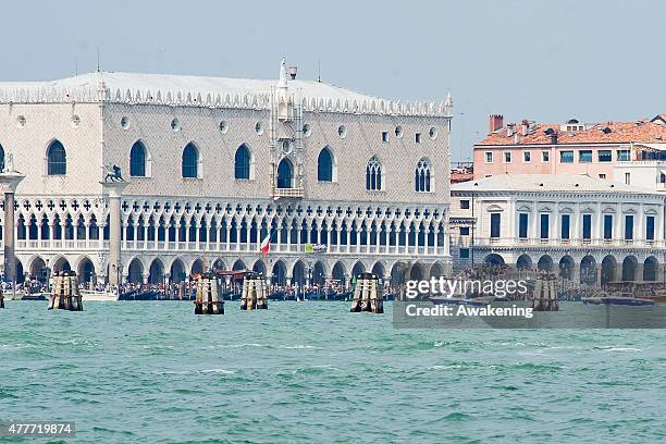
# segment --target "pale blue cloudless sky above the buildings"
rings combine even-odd
[[[102,69],[299,78],[455,102],[454,160],[489,113],[562,122],[666,112],[666,2],[30,1],[0,5],[0,81]]]

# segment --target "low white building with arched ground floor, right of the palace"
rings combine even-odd
[[[473,261],[568,269],[568,278],[597,283],[662,281],[664,202],[663,194],[587,175],[506,174],[456,184],[454,267]]]

